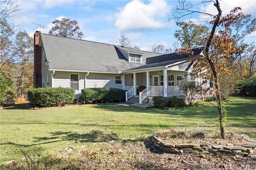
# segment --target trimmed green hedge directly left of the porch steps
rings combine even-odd
[[[82,89],[82,98],[86,104],[123,102],[125,101],[125,90],[116,88]]]

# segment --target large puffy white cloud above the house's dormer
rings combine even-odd
[[[169,11],[164,0],[151,0],[148,4],[133,0],[115,14],[115,25],[121,30],[165,28]]]

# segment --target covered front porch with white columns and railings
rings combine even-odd
[[[185,95],[180,90],[180,84],[190,80],[188,71],[161,69],[133,72],[123,74],[123,89],[127,90],[126,101],[133,96],[138,96],[139,103],[145,103],[153,96]]]

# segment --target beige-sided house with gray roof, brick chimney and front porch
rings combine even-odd
[[[34,46],[34,86],[71,87],[76,97],[84,88],[119,88],[127,90],[126,101],[138,96],[142,103],[151,96],[183,95],[180,83],[197,81],[185,54],[162,55],[38,31]],[[202,55],[203,48],[193,52]]]

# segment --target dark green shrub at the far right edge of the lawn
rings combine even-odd
[[[256,78],[239,80],[235,84],[235,93],[242,96],[256,96]]]

